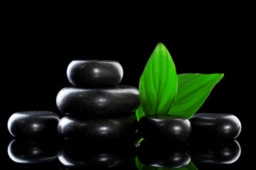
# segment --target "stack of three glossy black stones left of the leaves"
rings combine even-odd
[[[68,116],[58,123],[66,140],[111,143],[136,142],[139,91],[119,85],[121,64],[105,60],[74,60],[67,69],[73,85],[56,98],[59,110]]]

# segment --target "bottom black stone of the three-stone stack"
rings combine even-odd
[[[79,120],[65,116],[58,123],[58,132],[66,140],[88,142],[119,142],[137,140],[137,118],[128,115],[119,118],[90,118]]]

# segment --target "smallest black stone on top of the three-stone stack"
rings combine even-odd
[[[102,88],[117,86],[123,77],[121,64],[107,60],[74,60],[67,69],[73,86]]]

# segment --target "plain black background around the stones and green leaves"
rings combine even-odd
[[[55,97],[60,89],[71,86],[66,69],[72,60],[117,60],[124,69],[121,84],[138,88],[139,77],[158,42],[163,42],[169,50],[177,74],[224,73],[198,113],[230,113],[242,123],[237,139],[242,150],[240,159],[230,165],[196,164],[198,169],[238,169],[250,164],[253,154],[250,136],[255,133],[250,122],[255,117],[255,111],[250,109],[255,84],[251,74],[255,53],[250,51],[253,47],[250,11],[223,8],[193,15],[178,13],[179,18],[164,14],[167,16],[164,20],[155,14],[148,23],[144,17],[135,17],[136,21],[127,16],[112,20],[113,16],[92,19],[83,14],[78,19],[81,13],[70,16],[53,11],[12,10],[4,16],[1,54],[4,164],[11,169],[21,166],[7,155],[7,146],[14,139],[7,130],[11,114],[46,110],[63,116],[55,106]]]

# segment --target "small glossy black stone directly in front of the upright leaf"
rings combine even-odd
[[[178,115],[146,115],[139,120],[138,130],[149,141],[186,141],[191,135],[191,124]]]

